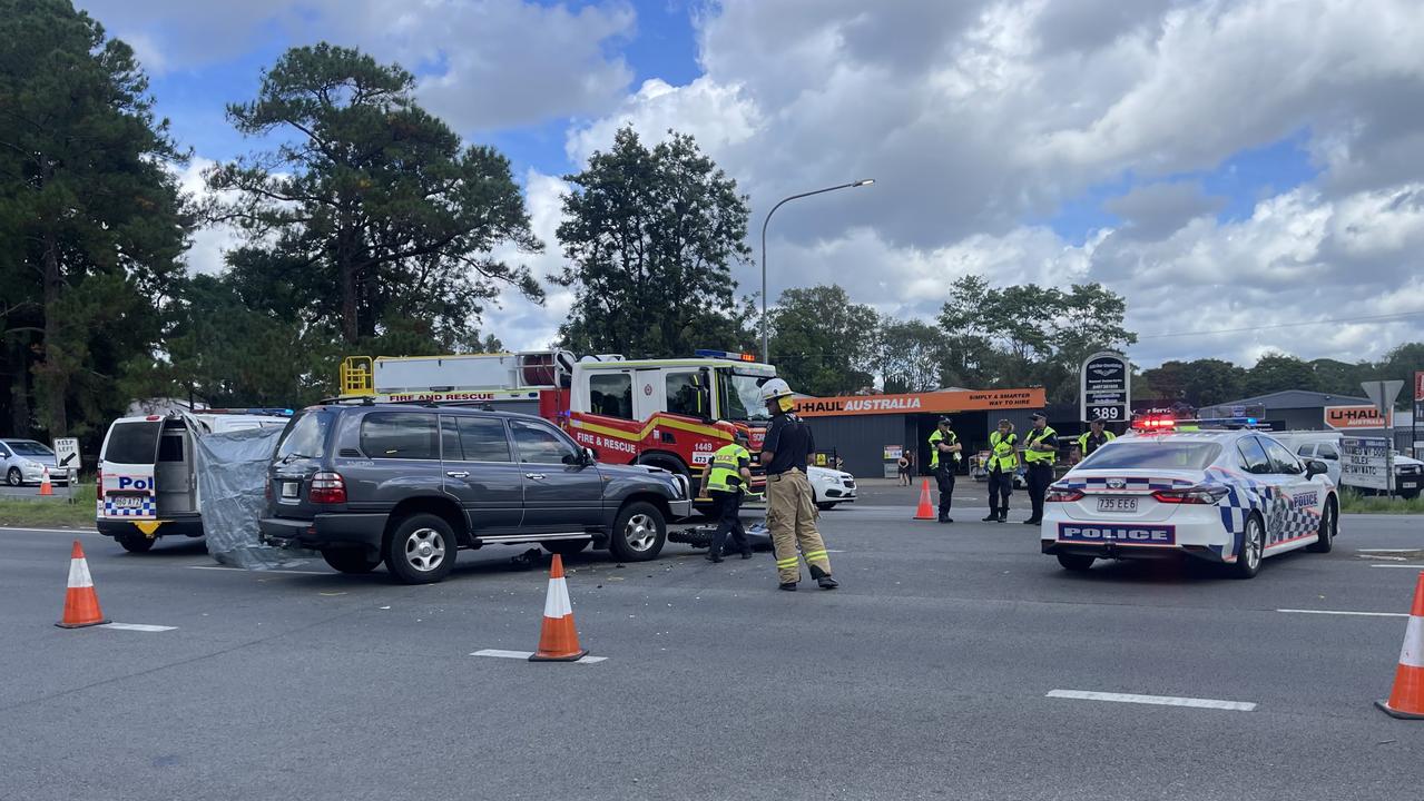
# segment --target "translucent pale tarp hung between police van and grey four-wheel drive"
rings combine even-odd
[[[208,553],[222,565],[266,571],[289,566],[315,553],[286,551],[258,541],[258,519],[266,509],[266,474],[281,428],[246,428],[221,434],[194,431],[198,509]]]

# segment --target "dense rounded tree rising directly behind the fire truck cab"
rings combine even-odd
[[[622,128],[577,175],[565,175],[558,240],[574,287],[560,327],[578,353],[688,356],[743,349],[749,310],[736,307],[732,265],[750,258],[746,196],[692,137],[648,148]]]

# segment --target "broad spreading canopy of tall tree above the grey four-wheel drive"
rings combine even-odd
[[[215,216],[292,265],[306,319],[347,346],[387,327],[460,339],[501,286],[544,296],[527,267],[490,256],[543,249],[508,161],[464,147],[413,91],[410,73],[356,50],[292,48],[256,100],[228,107],[238,131],[281,144],[208,174],[236,196]]]

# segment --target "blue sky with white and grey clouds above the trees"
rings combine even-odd
[[[289,46],[417,73],[417,98],[506,152],[562,267],[560,176],[632,125],[696,137],[779,212],[769,295],[836,282],[931,319],[954,277],[1102,282],[1134,357],[1368,359],[1424,340],[1424,4],[1411,0],[80,0],[130,41],[197,168],[246,152],[224,104]],[[221,269],[208,230],[194,269]],[[759,267],[736,265],[739,292]],[[548,344],[570,296],[486,330]],[[1324,313],[1329,312],[1329,316]],[[1323,323],[1397,314],[1384,322]],[[1297,326],[1312,322],[1312,326]],[[1290,323],[1290,327],[1270,329]]]

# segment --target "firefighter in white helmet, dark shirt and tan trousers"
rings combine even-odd
[[[760,461],[766,468],[766,528],[776,549],[780,589],[796,589],[802,558],[820,589],[836,589],[840,583],[830,578],[830,556],[816,531],[816,505],[806,479],[806,460],[816,450],[810,425],[792,411],[792,388],[786,381],[772,378],[762,384],[762,401],[772,413]]]

